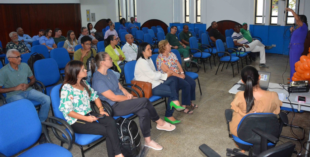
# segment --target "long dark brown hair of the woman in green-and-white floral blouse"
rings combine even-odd
[[[81,71],[81,68],[83,67],[84,63],[81,61],[77,60],[72,60],[67,63],[66,67],[64,67],[64,82],[62,83],[60,89],[59,89],[59,97],[60,97],[60,92],[64,84],[70,84],[70,85],[75,85],[77,84],[78,81],[78,75]],[[91,90],[89,90],[86,81],[84,78],[82,78],[80,84],[86,89],[89,97],[91,96]]]

